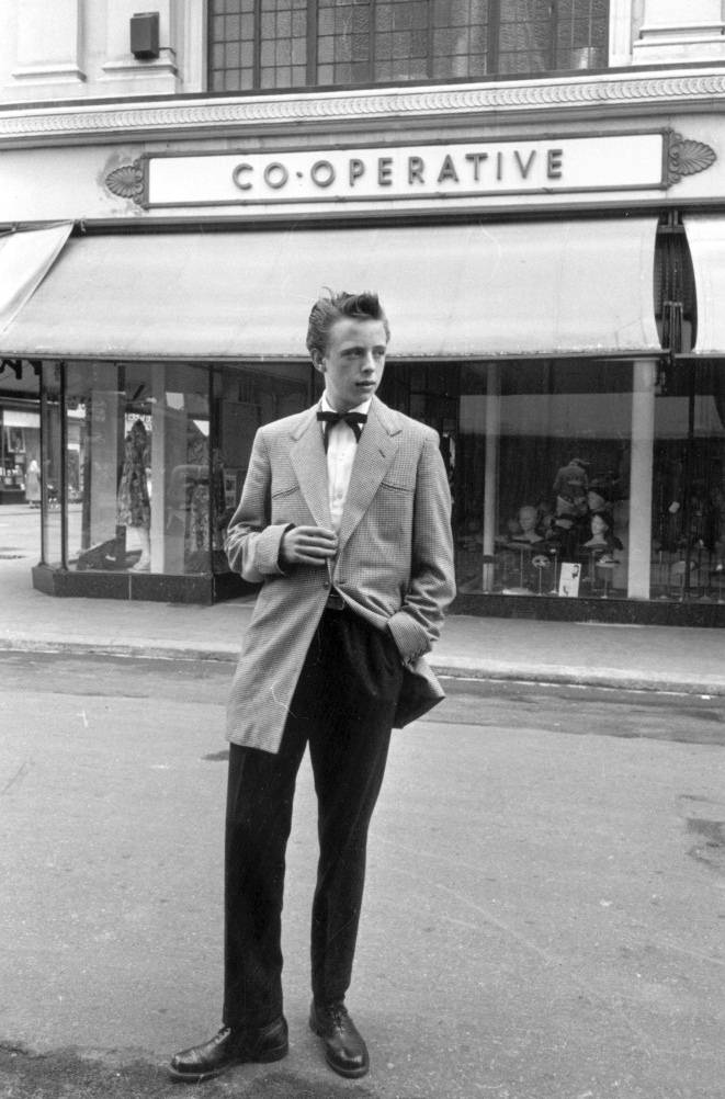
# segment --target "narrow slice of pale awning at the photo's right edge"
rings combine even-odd
[[[698,301],[698,336],[692,354],[725,355],[725,218],[689,214],[682,221]]]

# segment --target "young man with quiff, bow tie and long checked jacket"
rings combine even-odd
[[[376,295],[315,302],[322,400],[258,431],[228,526],[232,568],[261,588],[228,706],[224,1025],[174,1057],[176,1079],[287,1053],[285,851],[308,744],[320,839],[310,1025],[335,1072],[368,1070],[345,1007],[368,825],[391,729],[443,698],[424,654],[455,593],[437,436],[375,396],[389,335]]]

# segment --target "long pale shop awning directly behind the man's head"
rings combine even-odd
[[[660,352],[656,219],[71,238],[5,355],[306,357],[324,287],[375,289],[402,358]]]

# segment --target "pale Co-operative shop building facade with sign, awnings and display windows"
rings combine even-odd
[[[210,601],[256,429],[377,289],[466,613],[725,623],[713,0],[5,0],[2,489],[52,595]],[[684,9],[684,11],[683,11]]]

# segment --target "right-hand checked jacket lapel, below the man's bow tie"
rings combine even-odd
[[[368,422],[357,445],[347,499],[345,500],[343,524],[339,531],[341,553],[370,507],[372,497],[378,491],[380,481],[398,452],[400,433],[401,426],[398,417],[382,401],[373,397]]]

